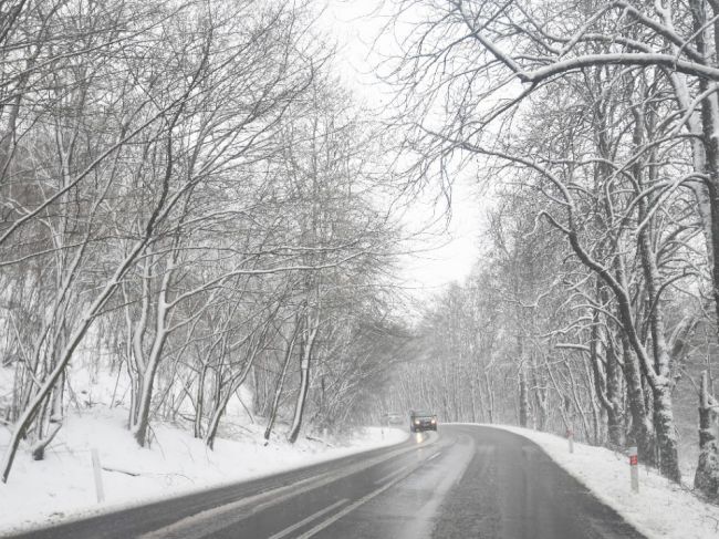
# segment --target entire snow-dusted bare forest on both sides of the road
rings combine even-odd
[[[0,479],[82,365],[140,446],[249,387],[268,439],[427,406],[718,496],[719,2],[381,1],[381,114],[317,10],[0,0]],[[459,176],[482,255],[409,298],[403,208]]]

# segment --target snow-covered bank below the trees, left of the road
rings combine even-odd
[[[125,410],[105,407],[72,415],[48,449],[45,460],[32,462],[27,452],[19,454],[8,484],[0,484],[0,536],[254,479],[398,444],[408,437],[397,428],[367,427],[338,440],[301,437],[290,445],[273,437],[264,446],[263,427],[249,425],[240,427],[239,439],[218,438],[215,450],[209,450],[186,431],[156,425],[152,449],[142,449],[123,427],[126,416]],[[0,429],[0,452],[8,438],[7,429]],[[97,449],[104,468],[102,505],[95,496],[92,448]]]

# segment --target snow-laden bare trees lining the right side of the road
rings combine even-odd
[[[429,394],[449,418],[636,444],[679,480],[690,392],[695,484],[719,494],[719,4],[397,3],[407,148],[500,200],[488,260],[424,322],[454,376]]]

